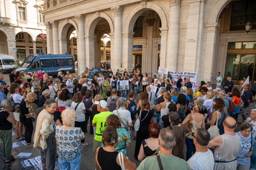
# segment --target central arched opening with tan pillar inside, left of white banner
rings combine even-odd
[[[133,26],[132,67],[152,75],[160,66],[160,29],[162,23],[154,10],[142,12]]]

